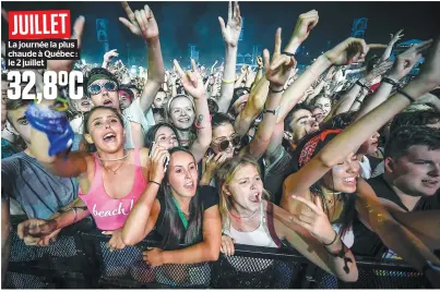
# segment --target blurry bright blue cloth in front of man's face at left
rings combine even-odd
[[[74,133],[63,112],[39,109],[34,102],[26,110],[28,123],[47,135],[49,139],[49,156],[55,156],[63,150],[70,151]],[[66,156],[67,158],[67,156]]]

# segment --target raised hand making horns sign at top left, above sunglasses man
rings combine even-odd
[[[127,1],[122,2],[122,8],[130,21],[119,17],[119,21],[126,25],[130,32],[136,36],[142,36],[145,41],[152,40],[159,36],[159,28],[154,19],[153,11],[148,5],[142,10],[132,11]]]

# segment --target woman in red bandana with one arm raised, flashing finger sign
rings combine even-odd
[[[411,71],[429,42],[414,46],[411,54],[397,58],[395,66]],[[349,229],[356,208],[359,219],[415,268],[425,269],[428,260],[438,263],[417,238],[392,219],[371,187],[359,179],[359,163],[355,155],[360,145],[394,114],[438,86],[438,62],[440,39],[427,59],[425,71],[407,86],[343,132],[318,132],[306,137],[298,147],[300,169],[285,180],[281,206],[295,216],[296,223],[331,246],[335,256],[346,258],[349,253],[347,247],[353,244]],[[324,210],[324,216],[317,216],[318,209]]]

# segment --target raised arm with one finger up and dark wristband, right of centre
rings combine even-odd
[[[241,150],[241,154],[248,154],[255,159],[260,158],[267,149],[275,127],[276,114],[280,111],[284,85],[289,77],[290,71],[296,65],[294,57],[281,53],[281,28],[278,28],[275,35],[272,62],[270,62],[269,51],[263,51],[264,66],[266,68],[265,77],[270,82],[269,96],[263,110],[263,121],[259,124],[257,134],[251,143]]]

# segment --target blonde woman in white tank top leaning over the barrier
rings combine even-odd
[[[255,161],[235,157],[222,165],[216,177],[221,193],[223,253],[233,255],[234,243],[282,247],[282,241],[286,240],[328,272],[337,275],[344,281],[357,280],[353,255],[347,261],[332,257],[322,243],[304,235],[306,230],[288,223],[292,217],[288,212],[266,200],[267,193]]]

